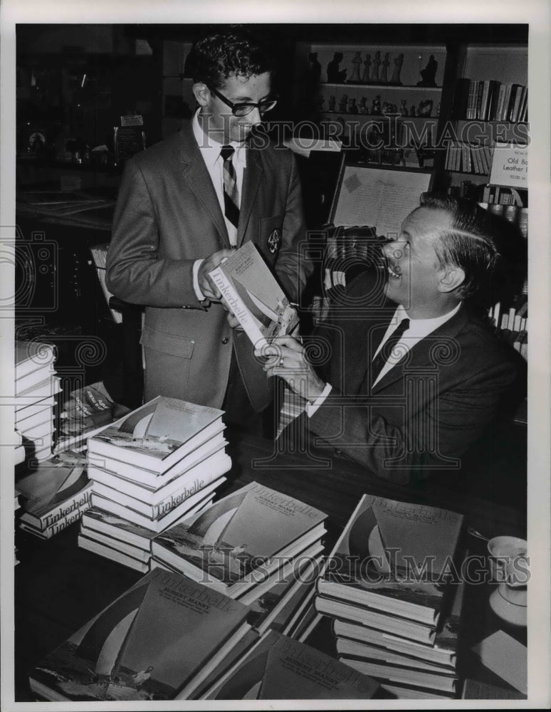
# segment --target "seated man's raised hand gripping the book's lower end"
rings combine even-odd
[[[320,397],[325,382],[318,377],[308,361],[303,345],[290,336],[280,336],[256,356],[265,357],[264,370],[269,376],[283,378],[301,397],[313,403]]]

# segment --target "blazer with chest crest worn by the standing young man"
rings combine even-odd
[[[268,238],[275,230],[281,239],[271,251]],[[238,246],[253,241],[293,301],[311,269],[299,253],[304,236],[293,155],[266,141],[248,147]],[[108,288],[122,300],[145,305],[146,399],[164,394],[220,407],[233,347],[253,406],[260,411],[270,402],[246,335],[229,328],[221,304],[204,308],[194,293],[194,261],[222,248],[230,248],[224,216],[187,122],[127,163],[107,255]]]

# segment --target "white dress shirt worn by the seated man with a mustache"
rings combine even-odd
[[[411,319],[406,313],[406,310],[404,307],[400,304],[398,305],[397,310],[394,312],[394,316],[390,320],[389,327],[387,328],[387,331],[384,333],[384,336],[382,337],[382,341],[380,342],[379,346],[377,347],[377,351],[374,353],[374,357],[377,356],[379,351],[382,349],[384,344],[387,342],[390,336],[394,333],[394,330],[397,329],[399,323],[403,319],[409,319],[409,327],[404,331],[402,336],[400,337],[399,341],[394,345],[394,349],[396,349],[396,357],[392,357],[394,354],[394,349],[392,352],[389,354],[389,358],[387,362],[384,364],[382,367],[381,371],[379,372],[379,375],[377,378],[374,380],[372,385],[375,385],[382,379],[382,377],[391,370],[399,361],[402,360],[404,355],[409,352],[416,343],[421,341],[421,339],[424,339],[424,337],[428,336],[431,334],[433,331],[435,331],[439,326],[442,324],[445,324],[446,321],[451,319],[454,314],[458,313],[459,308],[461,307],[461,302],[458,303],[458,305],[453,308],[451,311],[448,313],[436,317],[434,319]],[[330,384],[326,384],[325,388],[323,389],[323,392],[320,394],[320,396],[311,404],[308,404],[306,406],[306,414],[308,417],[313,416],[313,414],[318,410],[320,405],[325,401],[327,396],[330,394],[332,389],[332,386]]]

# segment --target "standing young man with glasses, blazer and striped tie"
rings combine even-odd
[[[310,273],[293,155],[253,128],[276,104],[273,60],[243,28],[221,26],[187,58],[198,109],[176,135],[125,167],[107,257],[117,297],[145,305],[145,399],[223,407],[252,427],[271,402],[246,335],[211,271],[253,241],[297,301]]]

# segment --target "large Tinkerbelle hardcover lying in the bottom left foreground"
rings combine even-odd
[[[46,656],[31,689],[51,701],[189,698],[248,632],[248,608],[154,569]]]

